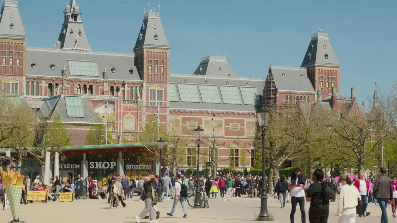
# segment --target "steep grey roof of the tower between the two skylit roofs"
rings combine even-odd
[[[160,13],[148,12],[143,15],[143,23],[134,49],[141,46],[170,48],[161,24]]]

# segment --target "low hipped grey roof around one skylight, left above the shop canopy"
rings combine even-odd
[[[56,115],[59,115],[60,119],[64,123],[102,123],[98,114],[94,111],[94,108],[90,106],[87,99],[81,96],[69,96],[67,97],[80,97],[83,104],[84,117],[68,117],[66,112],[65,96],[58,95],[52,98],[47,98],[39,110],[39,117],[50,117],[53,120]]]

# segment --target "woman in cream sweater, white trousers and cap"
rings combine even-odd
[[[340,187],[338,202],[338,223],[355,223],[357,198],[361,200],[360,193],[346,174],[339,177],[342,186]]]

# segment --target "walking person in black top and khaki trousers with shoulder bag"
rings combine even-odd
[[[144,184],[143,184],[143,194],[142,194],[142,200],[145,201],[145,208],[142,210],[141,214],[139,216],[135,217],[135,220],[137,223],[140,223],[140,219],[144,218],[147,213],[149,213],[149,218],[150,218],[150,223],[157,223],[157,221],[154,219],[156,217],[156,213],[154,211],[153,207],[153,196],[156,196],[156,194],[152,194],[152,183],[154,182],[154,178],[150,176],[146,176],[144,178]]]

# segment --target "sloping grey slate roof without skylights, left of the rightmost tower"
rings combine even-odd
[[[306,68],[271,65],[270,72],[272,73],[278,92],[293,91],[315,93],[313,85],[307,76]],[[301,77],[301,75],[303,75],[303,77]]]

